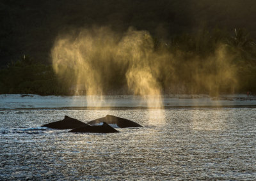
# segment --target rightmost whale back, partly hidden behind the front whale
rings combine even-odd
[[[124,119],[122,117],[116,117],[113,115],[106,115],[106,117],[102,117],[99,119],[92,120],[90,122],[87,122],[87,124],[90,125],[96,125],[100,122],[106,122],[107,124],[116,124],[120,128],[124,127],[143,127],[140,124],[133,122],[132,120]]]

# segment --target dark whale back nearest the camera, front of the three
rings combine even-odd
[[[74,133],[118,133],[116,129],[103,122],[101,126],[83,126],[71,129],[68,132]]]

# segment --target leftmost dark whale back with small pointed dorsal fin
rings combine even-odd
[[[65,115],[65,118],[63,120],[51,122],[43,125],[42,127],[49,127],[53,129],[74,129],[76,127],[82,127],[82,126],[90,126],[90,125]]]

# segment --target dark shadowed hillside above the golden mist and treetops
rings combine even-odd
[[[51,62],[54,39],[73,27],[109,25],[116,31],[126,31],[133,26],[160,39],[195,32],[198,27],[228,31],[244,27],[255,37],[255,10],[254,0],[1,0],[1,66],[23,54]]]

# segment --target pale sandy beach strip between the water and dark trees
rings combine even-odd
[[[97,110],[237,107],[255,108],[256,96],[247,96],[246,94],[227,94],[211,98],[205,94],[176,94],[172,96],[147,96],[147,98],[143,98],[142,96],[127,95],[39,96],[35,94],[0,94],[0,110]]]

